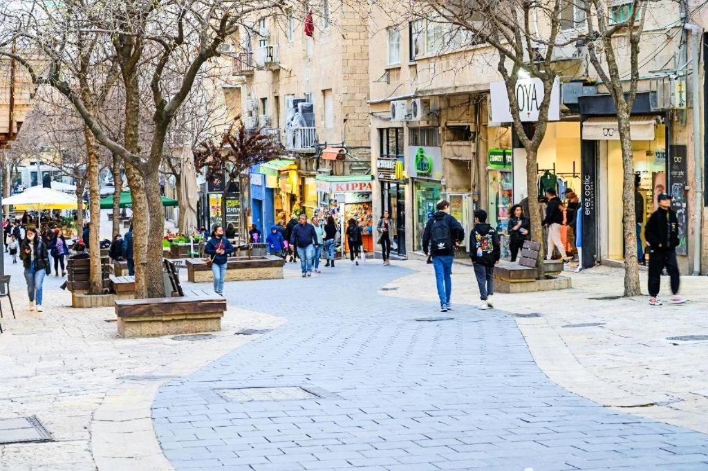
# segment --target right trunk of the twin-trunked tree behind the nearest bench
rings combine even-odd
[[[160,195],[160,180],[157,169],[147,169],[144,173],[145,193],[149,210],[149,230],[147,237],[147,297],[164,297],[162,283],[162,237],[165,216]]]

